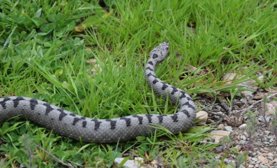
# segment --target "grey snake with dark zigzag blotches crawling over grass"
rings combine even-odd
[[[196,118],[194,101],[180,88],[166,84],[155,75],[156,66],[169,52],[169,42],[160,43],[150,52],[145,65],[145,80],[153,92],[175,104],[173,114],[135,114],[112,119],[95,119],[77,115],[45,101],[23,96],[0,98],[0,123],[19,116],[53,130],[65,137],[88,143],[115,143],[147,136],[164,127],[172,134],[184,132]]]

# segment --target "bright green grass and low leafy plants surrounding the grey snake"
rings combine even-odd
[[[93,0],[0,1],[0,97],[34,97],[94,118],[173,113],[175,107],[155,96],[144,81],[150,51],[165,40],[170,42],[170,55],[157,68],[157,76],[189,89],[196,100],[198,94],[235,94],[237,84],[247,77],[256,80],[257,73],[265,75],[258,83],[262,88],[276,85],[273,3],[104,1],[109,12]],[[86,25],[83,32],[74,29],[83,28],[80,23]],[[94,66],[86,64],[90,58],[102,71],[91,73]],[[199,69],[184,72],[188,65]],[[200,69],[208,74],[198,76]],[[226,73],[246,77],[223,85]],[[163,167],[202,167],[215,162],[211,149],[216,145],[199,143],[208,130],[195,126],[175,136],[164,131],[165,139],[160,133],[126,143],[87,144],[12,119],[0,123],[0,166],[28,166],[31,153],[32,166],[61,167],[36,143],[74,166],[115,167],[114,158],[130,156],[156,160]]]

